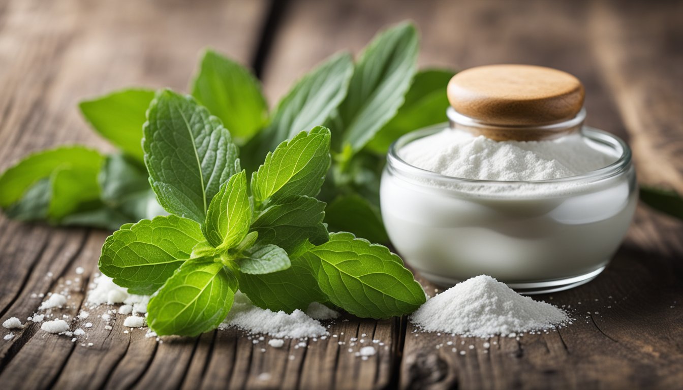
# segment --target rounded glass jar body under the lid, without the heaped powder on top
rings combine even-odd
[[[407,264],[439,285],[484,274],[526,294],[566,290],[604,270],[637,203],[624,141],[583,126],[582,117],[575,131],[616,161],[578,176],[527,182],[443,176],[401,158],[408,143],[451,126],[408,133],[387,156],[382,219]]]

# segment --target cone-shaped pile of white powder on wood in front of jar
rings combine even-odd
[[[438,294],[410,318],[424,331],[477,337],[550,329],[569,320],[561,309],[521,296],[486,275]]]

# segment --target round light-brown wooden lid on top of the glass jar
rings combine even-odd
[[[544,126],[570,120],[583,107],[581,81],[532,65],[470,68],[448,83],[448,100],[462,115],[494,126]]]

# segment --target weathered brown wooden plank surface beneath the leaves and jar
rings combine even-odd
[[[3,0],[0,169],[61,143],[107,150],[76,102],[130,85],[184,90],[205,46],[251,64],[274,102],[324,57],[357,53],[380,27],[412,18],[421,66],[527,63],[576,74],[587,123],[628,140],[641,182],[683,193],[682,15],[680,1]],[[0,217],[0,318],[27,318],[40,303],[31,294],[57,290],[82,266],[65,311],[76,314],[107,234]],[[116,320],[111,330],[94,321],[83,347],[31,324],[0,341],[0,388],[680,388],[682,238],[683,223],[639,207],[602,275],[539,296],[578,317],[547,334],[460,339],[418,335],[405,318],[338,320],[339,340],[385,342],[362,361],[332,338],[266,352],[234,330],[158,344]],[[447,341],[466,354],[436,348]]]

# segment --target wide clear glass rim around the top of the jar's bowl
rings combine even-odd
[[[389,152],[387,153],[387,167],[395,173],[399,173],[404,176],[417,176],[418,178],[436,180],[437,182],[444,183],[457,183],[457,184],[479,184],[487,186],[498,186],[505,185],[510,186],[514,184],[529,184],[532,186],[543,186],[545,184],[557,184],[557,183],[572,183],[572,182],[591,182],[597,180],[603,180],[606,178],[611,178],[617,176],[630,167],[632,153],[628,144],[624,142],[620,137],[607,133],[603,130],[598,130],[597,128],[592,128],[590,126],[582,126],[579,130],[579,135],[581,137],[586,137],[587,139],[599,143],[600,145],[605,145],[611,150],[619,154],[619,158],[613,163],[595,169],[593,171],[588,171],[586,173],[581,173],[574,176],[566,176],[564,178],[553,178],[546,180],[479,180],[479,179],[468,179],[468,178],[458,178],[456,176],[446,176],[438,172],[429,171],[415,165],[411,165],[406,162],[398,153],[400,148],[403,148],[410,142],[417,139],[427,137],[428,135],[433,135],[441,130],[448,127],[448,122],[437,124],[434,126],[429,126],[426,128],[421,128],[419,130],[411,131],[391,143],[389,146]],[[615,153],[615,154],[616,154]]]

